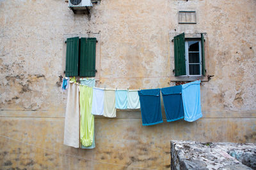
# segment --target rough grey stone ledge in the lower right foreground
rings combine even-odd
[[[256,169],[256,144],[171,141],[171,169]]]

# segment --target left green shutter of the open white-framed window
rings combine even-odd
[[[186,75],[185,34],[174,37],[175,76]]]

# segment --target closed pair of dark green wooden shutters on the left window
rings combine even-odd
[[[96,38],[67,38],[65,76],[95,76]]]

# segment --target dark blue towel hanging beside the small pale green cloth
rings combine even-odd
[[[142,125],[163,122],[160,104],[160,89],[139,90]]]

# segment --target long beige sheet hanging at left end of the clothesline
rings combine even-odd
[[[75,83],[68,85],[64,145],[79,148],[79,89]]]

